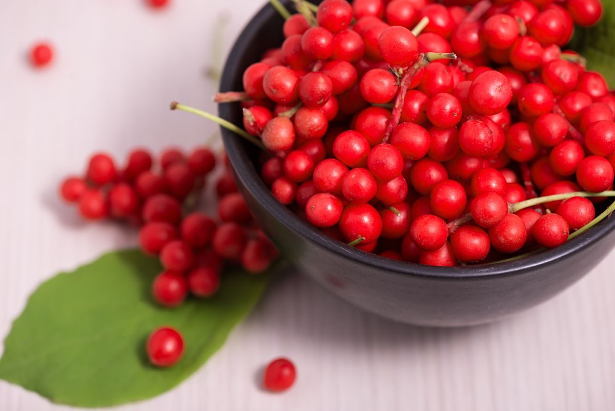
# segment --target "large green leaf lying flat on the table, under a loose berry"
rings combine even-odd
[[[160,271],[156,259],[127,250],[41,284],[4,341],[0,378],[81,407],[164,393],[223,345],[269,277],[230,270],[215,297],[165,309],[150,296]],[[177,327],[185,339],[184,357],[169,369],[153,367],[145,354],[146,338],[161,325]]]

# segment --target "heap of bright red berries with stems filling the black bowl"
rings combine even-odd
[[[615,195],[615,96],[562,49],[600,1],[294,3],[272,1],[284,42],[215,100],[241,102],[229,129],[315,229],[456,266],[557,247],[612,211],[595,207]]]

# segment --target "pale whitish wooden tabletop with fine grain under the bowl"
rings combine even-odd
[[[85,156],[135,145],[185,148],[215,127],[171,100],[215,110],[216,20],[223,50],[264,0],[0,2],[0,336],[39,282],[105,250],[135,244],[116,225],[87,225],[57,199]],[[57,47],[32,70],[33,42]],[[609,411],[615,407],[615,252],[557,298],[498,324],[418,329],[352,308],[296,274],[268,290],[202,369],[170,393],[121,410]],[[0,348],[1,349],[1,348]],[[284,394],[261,391],[272,357],[298,366]],[[60,410],[0,381],[0,410]]]

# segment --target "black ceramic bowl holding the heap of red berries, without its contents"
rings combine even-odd
[[[283,20],[265,6],[237,39],[221,91],[242,90],[242,74],[261,54],[282,44]],[[220,116],[242,125],[239,105]],[[258,151],[222,129],[239,190],[264,231],[301,273],[344,300],[410,324],[481,324],[530,308],[588,273],[615,241],[615,218],[555,249],[522,260],[468,267],[433,267],[390,260],[348,247],[315,230],[280,204],[255,168]]]

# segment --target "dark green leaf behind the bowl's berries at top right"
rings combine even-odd
[[[615,87],[615,0],[602,0],[602,18],[597,25],[576,27],[570,47],[587,58],[587,70],[605,76],[609,87]]]

